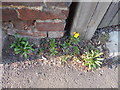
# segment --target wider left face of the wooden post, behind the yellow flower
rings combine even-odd
[[[97,2],[79,2],[71,28],[71,35],[73,32],[79,32],[80,37],[84,37],[87,24],[90,22],[96,6]]]

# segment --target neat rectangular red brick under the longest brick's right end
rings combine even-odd
[[[65,23],[37,22],[36,29],[39,31],[64,31]]]

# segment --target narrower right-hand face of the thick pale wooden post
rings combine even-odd
[[[94,15],[91,17],[92,19],[91,19],[90,23],[88,24],[88,28],[84,35],[84,39],[89,40],[92,38],[95,30],[97,29],[103,16],[105,15],[110,3],[111,2],[99,2],[98,6],[94,12]]]

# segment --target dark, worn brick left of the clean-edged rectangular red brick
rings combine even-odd
[[[15,20],[12,21],[13,25],[16,29],[19,30],[31,30],[33,26],[33,21],[28,20],[28,21],[22,21],[22,20]]]

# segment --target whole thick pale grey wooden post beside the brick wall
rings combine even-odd
[[[73,32],[79,32],[81,39],[91,39],[110,3],[79,2],[71,28],[71,35],[73,35]]]

